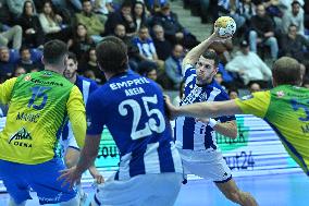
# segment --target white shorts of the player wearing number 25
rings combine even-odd
[[[114,180],[110,177],[94,196],[92,205],[103,206],[173,206],[182,185],[183,174],[166,172]]]

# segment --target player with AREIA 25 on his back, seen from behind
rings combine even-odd
[[[96,51],[108,82],[88,99],[85,146],[77,167],[63,171],[62,178],[72,185],[90,166],[107,125],[120,152],[120,167],[98,187],[91,205],[174,205],[183,167],[161,89],[127,71],[126,46],[121,39],[106,37]]]

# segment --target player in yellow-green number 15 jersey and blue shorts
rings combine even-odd
[[[44,47],[44,71],[0,85],[0,104],[10,105],[0,133],[0,179],[11,196],[10,206],[25,205],[32,198],[29,187],[40,204],[79,204],[76,192],[57,181],[65,169],[55,147],[66,117],[79,147],[86,134],[82,94],[63,77],[66,59],[66,45],[51,40]]]

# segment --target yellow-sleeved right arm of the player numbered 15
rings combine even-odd
[[[71,90],[66,108],[77,145],[82,148],[84,146],[87,129],[86,111],[82,93],[76,86]]]

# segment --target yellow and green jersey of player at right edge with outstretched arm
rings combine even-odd
[[[244,113],[263,118],[284,147],[309,175],[309,89],[281,85],[236,99]]]

